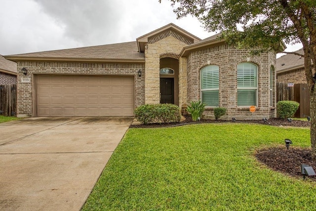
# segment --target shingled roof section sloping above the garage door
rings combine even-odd
[[[145,62],[144,53],[138,52],[137,42],[122,42],[90,47],[51,50],[4,56],[12,61],[100,61],[100,62]]]

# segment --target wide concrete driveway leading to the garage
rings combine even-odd
[[[0,210],[78,211],[132,118],[0,124]]]

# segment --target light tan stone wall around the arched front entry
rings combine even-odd
[[[153,39],[154,40],[154,39]],[[165,37],[161,40],[157,39],[157,42],[148,43],[147,49],[145,49],[145,103],[146,104],[159,104],[159,62],[160,55],[164,53],[176,53],[179,54],[183,47],[187,46],[186,43],[178,40],[173,36]],[[155,40],[156,41],[156,40]],[[179,63],[179,71],[183,74],[183,67]],[[180,73],[181,74],[181,73]],[[179,74],[179,75],[180,75]],[[181,81],[181,82],[180,82]],[[179,78],[179,83],[184,83],[183,75]],[[179,98],[181,96],[182,102],[184,99],[183,88],[179,88]]]

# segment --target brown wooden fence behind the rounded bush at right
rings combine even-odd
[[[300,103],[294,117],[306,118],[310,116],[310,91],[307,84],[294,84],[288,87],[287,83],[276,84],[276,101],[293,100]]]

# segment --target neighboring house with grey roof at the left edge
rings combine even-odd
[[[0,55],[0,84],[16,84],[16,63]]]

